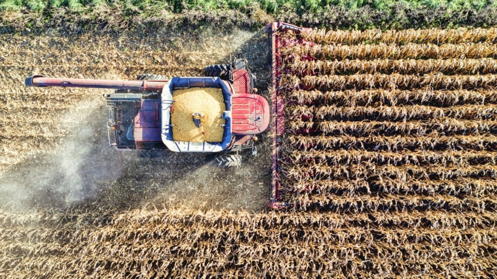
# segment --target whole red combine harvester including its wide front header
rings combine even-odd
[[[116,89],[113,94],[105,94],[108,107],[107,130],[109,143],[118,150],[155,151],[168,149],[175,152],[222,152],[216,155],[218,166],[240,166],[241,149],[251,149],[256,153],[256,135],[264,132],[270,123],[272,144],[272,164],[267,206],[272,209],[289,207],[281,197],[280,145],[284,133],[284,100],[280,92],[280,47],[291,44],[306,44],[297,39],[281,39],[280,34],[299,33],[302,28],[286,23],[267,25],[268,64],[272,65],[271,108],[260,95],[254,94],[255,76],[248,70],[245,59],[236,60],[235,65],[212,65],[205,68],[208,77],[166,77],[157,74],[142,74],[134,81],[95,80],[75,78],[51,78],[33,75],[26,78],[27,86],[61,86]],[[225,123],[222,138],[218,141],[176,139],[175,131],[185,125],[195,125],[202,129],[202,121],[209,112],[182,111],[182,121],[176,121],[179,107],[175,100],[177,90],[191,88],[219,88],[224,103],[219,118]],[[203,95],[195,99],[203,98]],[[184,110],[184,108],[182,108]],[[216,112],[214,112],[216,113]],[[186,123],[186,124],[185,124]],[[195,130],[196,131],[196,130]],[[205,131],[205,129],[204,129]],[[178,132],[179,133],[179,132]],[[192,137],[190,135],[190,137]],[[183,137],[184,138],[184,137]],[[195,137],[197,138],[197,137]],[[145,153],[149,154],[149,153]]]

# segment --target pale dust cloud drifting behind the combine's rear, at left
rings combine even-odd
[[[60,147],[39,151],[0,173],[0,206],[65,208],[94,199],[101,183],[122,170],[121,152],[108,146],[105,115],[101,99],[70,110],[61,118],[60,125],[70,132]]]

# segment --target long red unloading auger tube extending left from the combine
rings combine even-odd
[[[57,86],[104,89],[162,90],[168,80],[108,80],[84,78],[56,78],[32,75],[24,81],[26,86]]]

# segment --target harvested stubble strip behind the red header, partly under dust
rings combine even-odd
[[[239,168],[206,164],[202,154],[139,158],[109,147],[104,93],[24,86],[32,74],[135,79],[141,73],[202,76],[205,66],[247,58],[267,94],[262,32],[214,30],[0,36],[0,205],[115,208],[167,204],[194,209],[264,209],[268,148],[244,152]]]

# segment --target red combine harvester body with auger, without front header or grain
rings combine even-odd
[[[168,80],[157,74],[142,74],[137,80],[102,80],[52,78],[33,75],[25,80],[27,86],[60,86],[116,89],[104,94],[107,99],[107,131],[109,144],[118,150],[142,150],[153,155],[154,150],[176,152],[216,152],[214,164],[222,167],[239,166],[238,151],[251,149],[255,155],[256,135],[269,124],[269,105],[254,94],[255,75],[247,60],[238,59],[234,65],[212,65],[205,68],[206,77],[173,77]],[[189,88],[219,88],[223,95],[221,141],[179,141],[173,139],[171,123],[174,113],[174,91]],[[220,103],[218,105],[221,105]],[[197,127],[201,120],[193,115]]]

